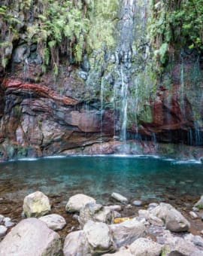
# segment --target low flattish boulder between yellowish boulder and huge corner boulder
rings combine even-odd
[[[65,218],[56,214],[43,216],[39,220],[46,223],[51,230],[62,230],[66,225]]]

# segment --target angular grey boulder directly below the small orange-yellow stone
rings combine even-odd
[[[117,247],[129,245],[145,235],[145,226],[136,219],[124,221],[120,224],[112,224],[109,226]]]

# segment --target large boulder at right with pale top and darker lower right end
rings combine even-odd
[[[165,227],[168,230],[173,232],[189,230],[189,221],[187,221],[180,212],[168,203],[160,203],[159,206],[156,206],[150,211],[150,214],[164,221]]]

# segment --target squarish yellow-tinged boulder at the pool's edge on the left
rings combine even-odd
[[[29,194],[24,199],[23,212],[26,217],[41,217],[50,212],[50,201],[42,192]]]

